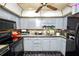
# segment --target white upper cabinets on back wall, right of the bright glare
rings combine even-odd
[[[42,18],[42,26],[54,25],[56,29],[66,29],[67,28],[67,17],[62,18]]]

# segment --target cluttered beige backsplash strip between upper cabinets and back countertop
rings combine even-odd
[[[46,35],[46,36],[66,36],[67,31],[61,29],[24,29],[21,30],[22,35]]]

